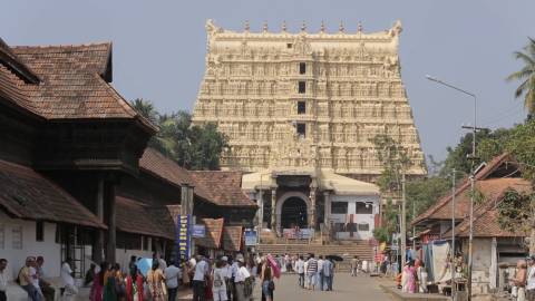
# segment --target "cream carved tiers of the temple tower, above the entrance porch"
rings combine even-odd
[[[389,30],[296,33],[225,30],[206,22],[206,71],[194,124],[228,137],[224,169],[333,168],[373,178],[382,166],[370,139],[391,136],[409,149],[409,174],[425,175],[398,55],[401,23]]]

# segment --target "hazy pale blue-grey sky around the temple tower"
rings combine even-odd
[[[204,74],[206,19],[242,30],[250,20],[296,32],[303,21],[318,32],[343,21],[354,32],[389,29],[401,20],[400,61],[426,155],[444,159],[474,123],[474,103],[425,78],[432,75],[477,95],[477,126],[509,127],[526,113],[514,98],[521,68],[513,52],[535,37],[535,1],[399,0],[2,0],[0,37],[8,45],[76,45],[111,41],[113,85],[126,99],[152,100],[162,113],[191,110]]]

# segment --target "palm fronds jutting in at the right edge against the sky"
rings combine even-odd
[[[507,81],[521,80],[522,84],[516,88],[515,98],[524,95],[524,107],[529,115],[535,113],[535,40],[529,39],[529,43],[524,47],[524,51],[515,51],[516,59],[523,61],[524,67],[521,70],[509,75]]]

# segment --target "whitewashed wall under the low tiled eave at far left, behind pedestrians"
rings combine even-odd
[[[13,230],[22,227],[22,249],[13,249]],[[59,276],[61,266],[60,245],[56,240],[56,224],[45,223],[43,241],[36,241],[36,222],[11,219],[0,212],[0,258],[8,260],[8,276],[12,280],[17,276],[27,256],[43,256],[45,273],[49,278]]]

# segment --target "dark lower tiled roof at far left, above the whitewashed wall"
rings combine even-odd
[[[0,207],[18,219],[106,229],[67,192],[36,171],[0,161]]]

